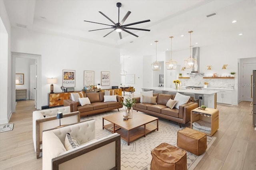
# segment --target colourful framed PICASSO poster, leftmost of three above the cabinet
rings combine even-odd
[[[76,71],[62,70],[62,85],[64,87],[76,87]]]

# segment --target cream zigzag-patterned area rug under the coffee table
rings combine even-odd
[[[124,109],[120,111],[111,111],[99,115],[94,115],[86,118],[81,118],[80,121],[87,119],[96,120],[96,138],[102,138],[111,134],[106,129],[102,129],[102,117],[112,114],[124,114]],[[104,124],[108,124],[108,121],[104,121]],[[156,122],[152,122],[156,125]],[[178,123],[168,121],[166,119],[159,119],[159,130],[155,130],[146,135],[146,137],[138,138],[137,140],[127,142],[121,139],[121,170],[150,170],[150,162],[152,160],[151,150],[163,142],[176,146],[177,131],[181,130]],[[210,148],[216,137],[207,136],[207,150]],[[190,152],[187,152],[187,167],[188,170],[193,170],[200,162],[204,154],[196,156]]]

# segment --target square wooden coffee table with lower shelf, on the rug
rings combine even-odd
[[[145,115],[143,113],[133,113],[132,119],[128,119],[127,121],[123,120],[123,115],[125,113],[118,113],[114,115],[109,115],[102,117],[102,129],[106,129],[112,133],[117,132],[121,135],[121,138],[128,142],[128,145],[130,145],[130,142],[144,136],[146,137],[146,134],[158,130],[158,118],[152,117],[149,115]],[[108,125],[104,125],[104,120],[110,122]],[[156,121],[156,125],[151,125],[149,123]],[[113,128],[113,130],[110,130],[110,127],[120,127],[119,129]]]

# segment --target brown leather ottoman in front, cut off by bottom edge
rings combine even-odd
[[[151,151],[150,170],[187,170],[185,150],[162,143]]]

